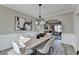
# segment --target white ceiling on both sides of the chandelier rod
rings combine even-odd
[[[39,16],[38,4],[4,4],[3,6],[33,17]],[[41,15],[42,18],[45,18],[50,15],[70,11],[72,8],[73,4],[42,4]]]

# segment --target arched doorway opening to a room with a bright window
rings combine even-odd
[[[62,22],[59,21],[59,20],[53,20],[53,19],[48,20],[48,21],[46,21],[46,23],[44,25],[44,30],[46,32],[52,33],[52,35],[55,35],[57,37],[61,37],[61,34],[62,34]]]

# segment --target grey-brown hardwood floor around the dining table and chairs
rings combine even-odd
[[[57,48],[55,49],[57,51],[55,52],[55,54],[53,54],[55,50],[50,49],[50,52],[47,55],[77,55],[79,53],[79,51],[75,52],[75,49],[71,45],[62,44],[62,47],[64,51],[61,48]],[[7,55],[7,52],[11,49],[12,47],[0,51],[0,55]],[[37,54],[37,51],[34,51],[34,53],[32,53],[31,55],[41,55],[41,54]]]

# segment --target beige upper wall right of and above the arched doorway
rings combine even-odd
[[[63,33],[73,33],[73,13],[64,13],[57,16],[51,16],[45,20],[60,20],[63,23]]]

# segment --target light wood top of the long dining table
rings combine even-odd
[[[34,48],[34,47],[44,43],[45,41],[49,40],[50,38],[52,38],[51,35],[45,35],[44,37],[40,37],[39,39],[31,38],[29,41],[25,42],[24,44],[27,49]]]

